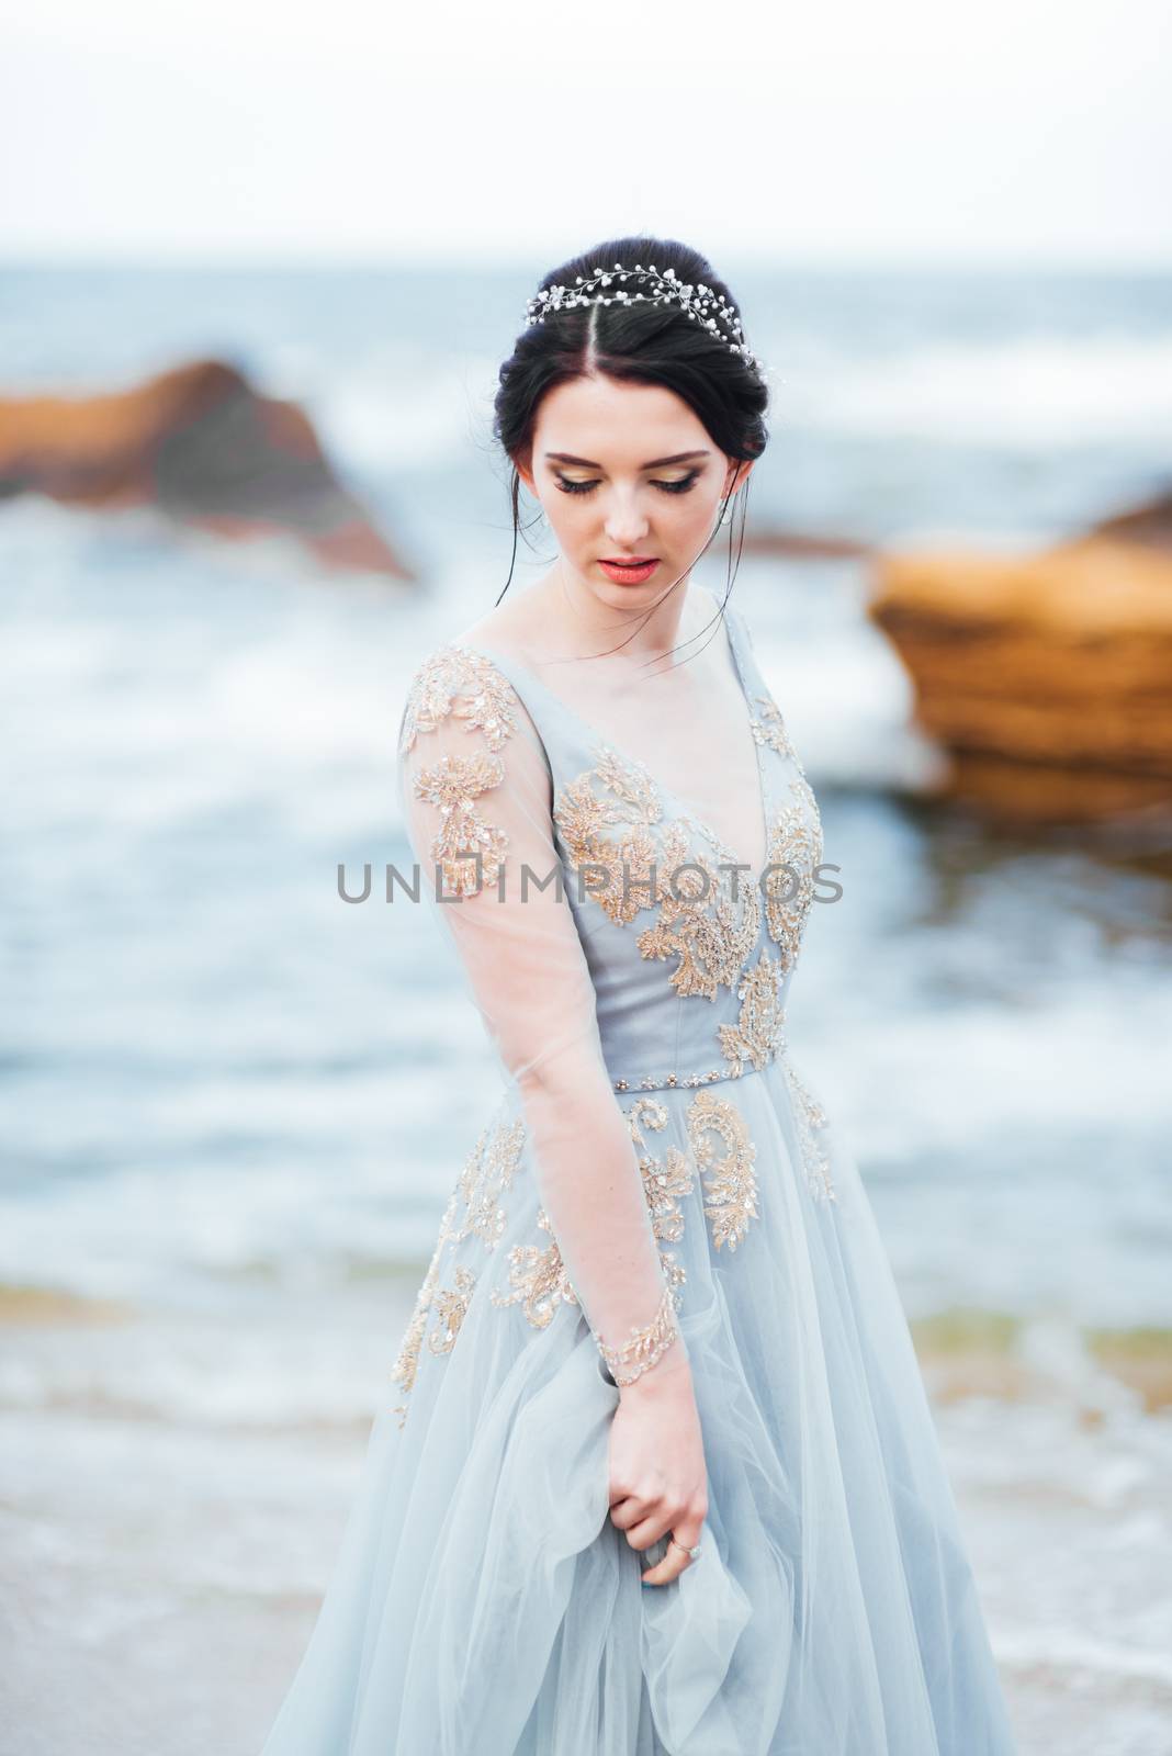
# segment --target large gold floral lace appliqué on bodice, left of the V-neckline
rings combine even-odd
[[[723,864],[735,864],[704,824],[688,815],[663,820],[642,766],[598,746],[595,767],[560,794],[554,822],[570,864],[611,920],[626,925],[640,910],[658,910],[656,924],[639,934],[639,954],[679,959],[668,975],[677,994],[716,999],[721,983],[732,987],[758,938],[760,887],[693,846],[691,831],[700,831]]]

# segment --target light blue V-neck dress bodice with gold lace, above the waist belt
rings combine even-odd
[[[726,609],[725,625],[756,746],[768,860],[760,873],[697,804],[516,657],[482,643],[449,648],[493,666],[542,739],[561,883],[616,1090],[739,1078],[784,1048],[786,996],[823,857],[821,822],[740,615]]]

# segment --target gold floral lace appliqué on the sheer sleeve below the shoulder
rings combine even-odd
[[[509,838],[481,815],[475,801],[504,780],[497,752],[516,730],[518,701],[512,683],[488,658],[460,646],[442,646],[412,678],[400,738],[404,755],[449,715],[486,745],[467,757],[444,755],[412,774],[416,797],[440,813],[430,853],[449,896],[474,896],[500,874]],[[477,853],[479,860],[472,857]]]

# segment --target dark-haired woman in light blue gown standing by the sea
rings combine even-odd
[[[837,867],[746,620],[690,581],[767,406],[674,241],[546,276],[500,371],[514,534],[523,481],[558,558],[421,658],[398,795],[504,1089],[263,1756],[1012,1756],[888,1257],[786,1036]]]

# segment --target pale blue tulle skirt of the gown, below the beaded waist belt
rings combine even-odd
[[[704,1429],[702,1552],[642,1584],[665,1542],[639,1552],[609,1519],[618,1387],[575,1303],[516,1296],[514,1245],[551,1245],[528,1154],[481,1201],[488,1224],[465,1168],[261,1756],[1012,1756],[888,1256],[793,1076],[783,1055],[707,1087],[751,1141],[735,1247],[716,1241],[719,1162],[700,1175],[693,1154],[697,1094],[623,1094],[649,1154],[693,1166],[660,1227]],[[523,1140],[516,1103],[481,1157]]]

